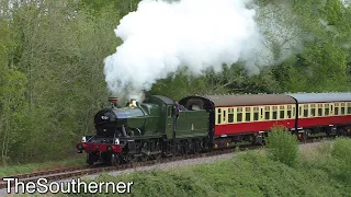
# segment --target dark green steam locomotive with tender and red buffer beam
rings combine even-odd
[[[197,153],[210,147],[210,114],[205,109],[186,109],[161,95],[143,103],[131,100],[125,107],[117,107],[113,97],[110,103],[111,107],[94,116],[95,135],[82,137],[77,144],[80,153],[87,152],[90,165]]]

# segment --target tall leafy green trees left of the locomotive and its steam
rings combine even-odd
[[[27,1],[14,4],[13,20],[0,18],[3,164],[72,155],[75,142],[94,132],[92,117],[107,96],[103,59],[120,42],[118,12],[78,8],[69,0]]]

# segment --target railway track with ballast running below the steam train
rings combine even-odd
[[[314,138],[302,143],[313,143],[313,142],[319,142],[325,138]],[[236,147],[236,150],[239,149],[239,151],[245,150],[252,150],[263,148],[263,146],[258,144],[242,144],[239,147]],[[14,177],[19,178],[20,182],[29,183],[29,182],[36,182],[38,178],[46,178],[48,182],[53,181],[59,181],[59,179],[66,179],[66,178],[76,178],[81,177],[84,175],[90,174],[97,174],[102,172],[111,172],[111,171],[117,171],[117,170],[127,170],[127,169],[134,169],[139,166],[150,166],[154,164],[160,164],[160,163],[169,163],[173,161],[181,161],[181,160],[189,160],[189,159],[196,159],[196,158],[207,158],[213,155],[219,155],[219,154],[227,154],[234,152],[235,149],[233,147],[225,148],[225,149],[215,149],[212,152],[205,152],[205,153],[199,153],[199,154],[185,154],[180,157],[171,157],[171,158],[163,158],[161,160],[150,160],[150,161],[143,161],[143,162],[131,162],[126,164],[121,164],[118,166],[103,166],[103,165],[94,165],[94,166],[76,166],[76,167],[64,167],[64,169],[57,169],[57,170],[49,170],[49,171],[42,171],[42,172],[35,172],[35,173],[27,173],[27,174],[16,174],[16,175],[10,175],[8,177]],[[12,184],[13,186],[14,184]],[[0,189],[7,188],[7,183],[2,182],[2,177],[0,178]]]

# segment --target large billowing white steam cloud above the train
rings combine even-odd
[[[113,94],[138,97],[158,79],[186,66],[192,74],[220,71],[238,60],[247,68],[267,65],[270,51],[249,0],[144,0],[115,30],[123,44],[104,60]],[[259,54],[259,55],[258,55]]]

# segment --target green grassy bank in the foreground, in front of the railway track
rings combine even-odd
[[[279,149],[297,146],[285,144],[280,143]],[[117,177],[103,174],[94,181],[134,182],[133,196],[350,196],[351,139],[337,139],[332,146],[328,141],[308,144],[285,160],[272,154],[246,151],[211,164]]]

